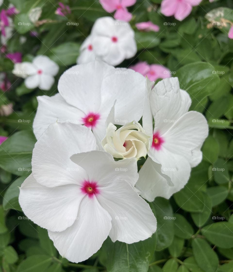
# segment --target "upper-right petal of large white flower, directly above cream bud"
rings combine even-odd
[[[103,79],[101,95],[104,105],[116,100],[114,124],[139,121],[146,96],[145,78],[131,69],[114,69]]]

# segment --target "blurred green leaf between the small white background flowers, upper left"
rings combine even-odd
[[[75,42],[65,42],[51,49],[49,57],[60,66],[76,64],[80,45]]]

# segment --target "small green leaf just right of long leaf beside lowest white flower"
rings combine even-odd
[[[181,214],[174,214],[174,217],[176,218],[174,220],[175,235],[183,239],[191,238],[194,234],[194,230],[185,217]]]

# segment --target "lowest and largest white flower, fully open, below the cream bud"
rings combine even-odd
[[[20,188],[25,215],[48,229],[59,253],[72,262],[89,258],[108,236],[134,243],[156,230],[148,203],[132,187],[136,159],[115,162],[96,148],[85,126],[50,125],[35,144],[32,174]]]

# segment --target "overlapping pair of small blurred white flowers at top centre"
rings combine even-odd
[[[81,46],[78,63],[92,61],[96,55],[115,66],[133,57],[136,52],[137,45],[130,24],[112,17],[101,17],[96,20],[91,35]]]

